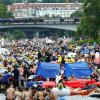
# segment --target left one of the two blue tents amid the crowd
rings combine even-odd
[[[37,68],[37,75],[43,76],[44,78],[55,78],[60,72],[59,64],[41,62]]]

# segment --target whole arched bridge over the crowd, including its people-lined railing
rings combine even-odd
[[[76,31],[79,20],[75,19],[1,19],[0,31],[6,29],[64,29]]]

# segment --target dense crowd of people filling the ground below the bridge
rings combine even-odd
[[[41,87],[41,81],[47,81],[42,76],[36,75],[38,64],[41,62],[60,64],[63,81],[75,79],[73,75],[69,79],[64,76],[65,63],[87,62],[93,70],[89,79],[100,81],[100,46],[96,43],[69,45],[66,39],[61,38],[50,43],[46,38],[34,38],[5,41],[1,48],[6,50],[0,51],[0,88],[6,88],[7,100],[56,100],[56,98],[66,100],[60,99],[66,98],[66,96],[62,97],[61,92],[55,94],[54,89]],[[31,81],[35,84],[27,87],[30,75],[34,76]],[[72,91],[73,89],[68,91],[61,80],[58,82],[57,91],[65,91],[66,95],[77,94]],[[99,89],[98,91],[100,93]]]

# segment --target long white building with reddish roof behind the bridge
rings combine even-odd
[[[70,17],[82,3],[13,3],[8,9],[15,18]]]

